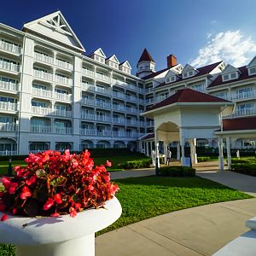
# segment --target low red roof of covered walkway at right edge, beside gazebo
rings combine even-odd
[[[239,130],[256,130],[256,116],[223,120],[223,131]]]

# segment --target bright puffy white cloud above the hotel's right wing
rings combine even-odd
[[[194,67],[201,67],[217,61],[226,61],[235,67],[246,65],[256,53],[256,43],[240,30],[219,32],[216,36],[207,36],[208,42],[199,49],[198,56],[191,61]]]

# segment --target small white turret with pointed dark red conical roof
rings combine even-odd
[[[143,78],[150,73],[154,73],[155,62],[152,56],[148,53],[148,49],[143,50],[139,61],[137,61],[137,77]]]

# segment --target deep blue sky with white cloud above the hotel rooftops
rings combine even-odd
[[[255,0],[12,0],[0,6],[0,22],[17,29],[61,10],[86,49],[128,60],[132,73],[147,48],[156,70],[166,56],[202,67],[224,60],[235,67],[256,55]]]

